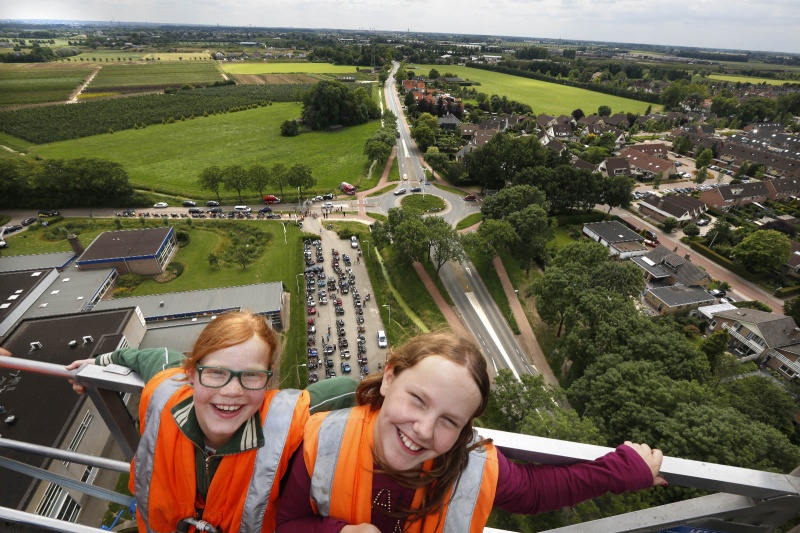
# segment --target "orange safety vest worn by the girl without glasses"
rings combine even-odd
[[[317,514],[348,524],[372,521],[373,440],[377,416],[377,410],[364,405],[309,418],[303,456],[311,477],[311,505]],[[476,433],[473,439],[478,438]],[[432,461],[429,461],[424,468],[431,466]],[[406,523],[404,531],[481,533],[494,504],[498,469],[494,445],[472,451],[455,492],[450,489],[440,514]],[[412,509],[421,505],[422,495],[423,489],[417,489]]]

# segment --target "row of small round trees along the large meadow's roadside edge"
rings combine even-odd
[[[206,167],[197,178],[197,184],[201,189],[212,192],[220,200],[220,189],[236,191],[239,201],[242,201],[242,191],[258,191],[260,197],[264,197],[267,189],[279,190],[283,196],[283,188],[308,190],[317,184],[311,167],[304,163],[295,163],[288,167],[283,163],[275,163],[267,168],[265,165],[256,163],[250,167],[242,165],[229,165],[220,168],[216,165]],[[299,200],[299,198],[298,198]]]

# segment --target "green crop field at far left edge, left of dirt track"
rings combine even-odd
[[[92,68],[69,63],[0,63],[0,106],[67,100]]]

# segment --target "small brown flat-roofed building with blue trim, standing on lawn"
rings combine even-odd
[[[146,228],[105,231],[89,245],[76,264],[81,270],[116,268],[122,274],[163,274],[177,251],[175,230]]]

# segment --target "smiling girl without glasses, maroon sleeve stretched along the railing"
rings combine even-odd
[[[479,533],[494,506],[535,514],[666,483],[661,452],[633,443],[574,465],[508,461],[472,427],[489,386],[473,341],[407,342],[361,382],[358,407],[309,419],[276,531]]]

